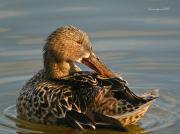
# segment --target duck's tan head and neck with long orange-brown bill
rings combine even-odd
[[[74,26],[56,29],[44,46],[44,69],[48,77],[59,79],[80,71],[75,62],[82,63],[103,77],[115,74],[94,54],[85,32]]]

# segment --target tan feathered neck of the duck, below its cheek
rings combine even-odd
[[[49,61],[45,63],[46,76],[52,79],[61,79],[62,77],[68,76],[72,73],[80,71],[73,62],[53,62]]]

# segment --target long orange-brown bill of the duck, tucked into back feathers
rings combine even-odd
[[[88,58],[83,58],[82,63],[101,74],[103,77],[116,77],[115,74],[95,54],[91,54]]]

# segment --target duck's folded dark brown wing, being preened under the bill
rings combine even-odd
[[[71,83],[71,90],[75,95],[73,105],[76,107],[69,112],[71,115],[67,113],[67,117],[69,119],[73,117],[79,124],[91,128],[95,128],[96,123],[98,126],[105,123],[113,128],[126,131],[116,120],[117,118],[111,115],[130,113],[140,105],[154,99],[135,95],[123,79],[103,78],[96,73],[75,73],[62,79],[61,82],[67,85]]]

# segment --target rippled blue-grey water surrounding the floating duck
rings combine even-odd
[[[129,133],[180,131],[180,2],[178,0],[6,0],[0,4],[0,133],[79,133],[16,118],[23,84],[42,68],[45,38],[59,26],[87,31],[93,48],[136,93],[160,97]],[[83,66],[83,69],[84,66]],[[96,133],[119,133],[98,129]],[[95,133],[87,130],[85,133]]]

